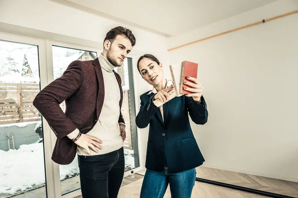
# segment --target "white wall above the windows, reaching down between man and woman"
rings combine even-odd
[[[123,12],[125,14],[125,12]],[[102,48],[106,33],[113,27],[130,28],[136,37],[131,52],[134,62],[134,82],[137,112],[140,95],[149,90],[141,78],[136,63],[144,53],[158,54],[160,60],[169,63],[166,38],[133,26],[103,18],[97,14],[81,11],[51,0],[1,0],[0,31],[33,36],[60,42]],[[132,120],[134,122],[134,120]],[[139,129],[140,157],[145,164],[148,129]]]

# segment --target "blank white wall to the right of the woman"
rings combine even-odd
[[[280,0],[185,35],[169,48],[298,9]],[[205,166],[298,182],[298,13],[170,51],[199,63],[209,110],[192,124]]]

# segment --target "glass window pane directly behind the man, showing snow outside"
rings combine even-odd
[[[74,60],[92,60],[97,57],[96,52],[71,49],[60,46],[53,46],[53,73],[54,80],[61,77],[68,65]],[[123,144],[125,153],[125,171],[139,167],[138,141],[135,125],[135,106],[133,79],[132,79],[132,58],[127,58],[121,67],[115,68],[122,79],[123,103],[122,114],[126,123],[127,137]],[[61,104],[65,111],[65,102]],[[79,168],[77,156],[69,165],[60,165],[60,180],[62,195],[75,191],[80,188]]]

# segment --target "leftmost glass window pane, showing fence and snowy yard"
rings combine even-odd
[[[38,46],[0,41],[0,197],[45,197]]]

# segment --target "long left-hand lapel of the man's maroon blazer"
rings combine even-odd
[[[96,115],[98,119],[103,106],[103,100],[104,100],[104,82],[103,82],[101,66],[99,64],[98,58],[93,60],[93,65],[94,65],[94,70],[95,70],[97,82],[98,82],[98,94],[96,99]]]

